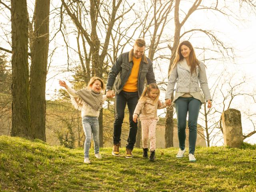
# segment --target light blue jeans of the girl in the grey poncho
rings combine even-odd
[[[84,158],[88,158],[92,138],[94,142],[94,153],[98,154],[100,152],[98,117],[84,116],[82,119],[82,124],[85,134]]]

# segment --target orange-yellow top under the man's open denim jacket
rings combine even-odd
[[[132,72],[126,81],[126,84],[124,84],[124,91],[127,92],[136,92],[137,91],[137,85],[138,85],[138,74],[140,69],[140,62],[141,58],[136,59],[135,57],[132,58],[133,61],[133,67]]]

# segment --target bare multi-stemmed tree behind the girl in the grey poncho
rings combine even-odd
[[[126,4],[128,8],[125,9],[124,4],[126,2],[122,0],[90,0],[90,2],[65,2],[62,0],[66,13],[78,30],[78,53],[80,53],[79,56],[84,74],[87,74],[86,81],[90,79],[90,76],[102,78],[102,69],[104,68],[104,60],[107,55],[114,24],[130,12],[134,5]],[[120,7],[121,5],[123,6]],[[103,42],[101,42],[99,36],[103,39]],[[79,37],[82,39],[84,54],[81,54]],[[82,57],[85,58],[85,65]],[[102,118],[101,110],[99,116],[100,146],[103,146]]]

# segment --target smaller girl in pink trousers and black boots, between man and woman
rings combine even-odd
[[[156,150],[156,122],[159,120],[157,109],[166,107],[165,103],[158,100],[160,90],[155,83],[151,83],[144,89],[138,104],[134,110],[133,120],[137,121],[140,115],[142,128],[143,157],[148,157],[148,138],[150,140],[150,161],[155,159]]]

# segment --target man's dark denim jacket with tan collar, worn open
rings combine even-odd
[[[108,73],[106,90],[111,90],[112,88],[114,88],[116,94],[119,94],[122,91],[124,84],[128,80],[128,77],[130,76],[132,71],[132,57],[133,49],[130,50],[130,52],[120,54],[120,56],[116,59],[116,62]],[[137,88],[139,96],[141,96],[143,92],[145,78],[148,84],[156,83],[152,61],[144,54],[140,62],[138,74]]]

